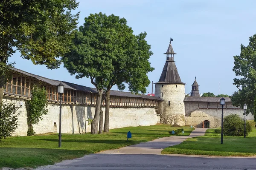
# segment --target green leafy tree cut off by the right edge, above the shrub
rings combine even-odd
[[[241,44],[241,53],[234,56],[233,71],[236,76],[233,84],[236,91],[231,97],[233,105],[243,108],[247,104],[247,113],[254,113],[254,99],[256,97],[256,34],[249,38],[249,45]]]

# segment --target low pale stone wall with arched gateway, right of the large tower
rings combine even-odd
[[[195,127],[203,127],[203,122],[208,120],[210,122],[209,127],[221,127],[221,111],[222,109],[196,109],[190,116],[186,116],[186,125],[193,125]],[[223,109],[223,117],[230,114],[238,114],[241,118],[244,118],[243,109]],[[247,120],[253,120],[253,115],[249,113],[246,116]]]

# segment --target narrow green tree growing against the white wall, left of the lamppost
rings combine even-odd
[[[32,125],[38,124],[40,120],[43,120],[43,116],[48,113],[47,106],[47,92],[44,87],[39,85],[32,86],[31,100],[26,102],[27,122],[28,122],[28,136],[34,135]]]

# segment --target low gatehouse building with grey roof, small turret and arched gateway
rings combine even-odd
[[[186,125],[195,127],[220,127],[222,105],[220,105],[221,97],[200,97],[199,85],[195,82],[192,84],[191,96],[186,96],[184,99]],[[244,110],[232,105],[229,97],[225,97],[223,116],[230,114],[238,114],[244,118]],[[247,120],[252,120],[253,115],[249,113],[246,116]]]

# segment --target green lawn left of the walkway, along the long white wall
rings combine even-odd
[[[79,158],[85,154],[170,136],[168,131],[179,128],[184,128],[185,133],[182,135],[189,135],[194,129],[154,125],[113,129],[110,130],[110,133],[102,135],[62,134],[61,148],[58,148],[58,134],[10,137],[0,141],[0,168],[54,164],[65,159]],[[126,142],[126,134],[129,130],[132,133],[132,138]]]

